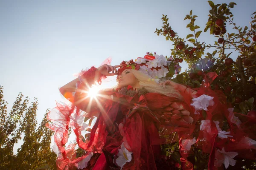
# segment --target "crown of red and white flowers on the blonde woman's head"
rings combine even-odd
[[[169,65],[171,61],[167,61],[163,55],[145,55],[143,58],[138,57],[135,62],[133,59],[130,61],[122,61],[120,68],[117,71],[117,79],[120,74],[126,69],[134,69],[140,71],[152,79],[159,81],[166,77],[169,73]]]

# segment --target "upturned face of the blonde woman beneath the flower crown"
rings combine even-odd
[[[123,71],[122,74],[118,76],[118,79],[118,88],[123,88],[125,86],[131,85],[135,89],[140,86],[138,79],[131,72],[131,69],[126,69],[125,71]]]

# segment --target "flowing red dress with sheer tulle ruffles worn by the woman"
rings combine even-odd
[[[91,68],[87,74],[84,74],[88,84],[93,83],[90,81],[93,71],[95,69]],[[148,93],[145,88],[137,91],[130,88],[102,91],[96,99],[91,99],[81,91],[86,90],[88,85],[79,83],[73,105],[69,107],[58,104],[58,119],[53,118],[53,114],[56,114],[54,112],[48,115],[48,119],[54,124],[47,126],[56,131],[55,142],[59,151],[58,168],[118,170],[121,167],[116,163],[116,159],[119,158],[122,144],[132,153],[131,160],[122,166],[124,170],[175,169],[175,166],[177,169],[181,166],[182,169],[192,170],[193,164],[187,160],[187,157],[193,154],[190,151],[192,145],[209,154],[208,168],[215,169],[215,153],[218,149],[221,150],[224,147],[226,151],[232,151],[236,146],[236,152],[244,152],[253,148],[248,144],[238,146],[239,142],[241,143],[241,136],[247,135],[232,121],[228,121],[231,127],[228,134],[233,136],[233,140],[230,140],[231,137],[225,139],[226,133],[224,139],[218,138],[220,132],[213,121],[221,122],[228,119],[229,112],[227,103],[224,102],[224,95],[208,87],[214,78],[214,74],[209,74],[202,88],[196,89],[198,91],[196,96],[192,97],[191,91],[180,91],[183,100],[163,94]],[[196,111],[191,105],[192,99],[202,94],[212,96],[214,105],[208,106],[207,111]],[[84,115],[85,119],[97,117],[87,138],[81,136],[81,124],[77,122],[77,117],[81,116],[81,110],[87,112]],[[202,120],[208,121],[208,130],[201,126]],[[77,156],[77,150],[73,145],[70,148],[64,147],[70,126],[76,133],[79,148],[85,150],[80,157]],[[255,137],[250,135],[251,138]],[[192,142],[193,140],[195,142]],[[178,166],[175,162],[172,164],[166,162],[165,153],[161,150],[161,144],[173,142],[179,142],[180,165]],[[125,159],[128,160],[126,156]],[[255,155],[251,152],[250,156]]]

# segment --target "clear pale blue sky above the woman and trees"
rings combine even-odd
[[[234,22],[241,26],[249,26],[256,10],[255,0],[213,2],[236,2]],[[158,37],[155,28],[162,26],[162,14],[167,14],[174,31],[186,37],[190,30],[183,19],[191,9],[204,30],[210,9],[206,0],[0,0],[4,99],[10,108],[19,92],[37,97],[41,122],[46,109],[63,100],[58,88],[82,68],[97,67],[107,57],[117,65],[147,51],[170,55],[172,42]],[[209,33],[201,35],[201,42],[217,39]]]

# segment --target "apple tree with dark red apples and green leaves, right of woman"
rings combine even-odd
[[[216,72],[218,77],[212,82],[213,90],[222,90],[227,96],[227,101],[231,103],[234,112],[255,114],[256,106],[256,12],[252,14],[249,26],[237,26],[231,9],[236,3],[227,5],[214,4],[208,1],[209,19],[204,30],[196,25],[196,15],[192,10],[186,15],[184,20],[189,20],[187,28],[192,31],[186,38],[179,37],[169,24],[167,15],[163,15],[163,26],[156,29],[155,33],[163,35],[166,40],[172,41],[175,48],[171,49],[171,56],[167,59],[178,62],[186,61],[189,68],[180,74],[174,74],[175,68],[171,68],[169,78],[175,82],[186,85],[190,88],[201,86],[204,76],[208,72]],[[227,28],[226,28],[227,27]],[[231,29],[232,28],[232,29]],[[232,32],[227,31],[233,30]],[[209,30],[209,31],[208,31]],[[203,34],[212,34],[218,38],[213,44],[204,41]],[[213,52],[210,52],[213,51]],[[233,59],[236,61],[233,61]],[[253,112],[252,112],[253,111]],[[255,115],[254,115],[255,116]],[[248,120],[255,120],[255,117],[247,116]],[[247,121],[247,120],[245,120]],[[168,156],[175,153],[174,145],[162,147],[168,150]],[[193,150],[195,157],[190,158],[195,169],[205,169],[207,155],[201,150]],[[243,169],[253,169],[255,161],[238,160],[238,166]],[[207,167],[207,166],[206,166]],[[232,167],[230,167],[232,168]]]

